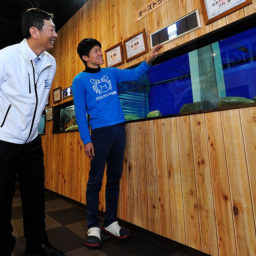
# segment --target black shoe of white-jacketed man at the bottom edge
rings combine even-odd
[[[41,244],[38,248],[34,250],[26,249],[25,256],[64,256],[64,253],[54,246],[52,246],[49,242],[45,244]]]

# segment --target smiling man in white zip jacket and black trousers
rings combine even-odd
[[[38,124],[46,105],[56,61],[46,50],[58,36],[52,14],[27,10],[24,40],[0,50],[0,255],[11,256],[12,198],[18,175],[26,255],[62,256],[48,242],[44,213],[44,153]]]

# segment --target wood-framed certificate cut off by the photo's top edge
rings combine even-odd
[[[205,24],[208,25],[219,20],[232,12],[235,12],[249,4],[252,0],[222,0],[221,4],[216,4],[212,0],[200,0],[204,15]]]

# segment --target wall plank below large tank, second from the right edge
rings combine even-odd
[[[221,113],[238,255],[254,255],[256,240],[239,110]]]

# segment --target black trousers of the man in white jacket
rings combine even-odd
[[[26,247],[48,242],[44,213],[44,152],[38,136],[26,144],[0,140],[0,255],[10,256],[15,246],[12,236],[12,199],[16,174],[20,186]]]

